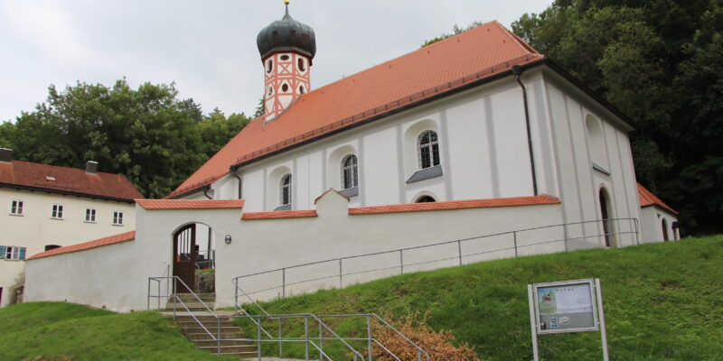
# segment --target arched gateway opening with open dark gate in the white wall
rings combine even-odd
[[[213,244],[211,227],[200,223],[192,223],[179,228],[174,233],[174,276],[188,286],[178,284],[178,292],[213,292],[215,280],[204,282],[207,276],[213,275],[216,253]],[[201,282],[199,282],[201,280]]]

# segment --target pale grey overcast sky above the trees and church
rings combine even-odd
[[[312,88],[418,49],[456,24],[510,28],[552,0],[291,0],[316,32]],[[258,31],[283,0],[0,0],[0,121],[76,81],[175,82],[204,113],[254,112],[263,92]]]

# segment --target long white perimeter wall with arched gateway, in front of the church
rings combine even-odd
[[[189,223],[211,227],[216,239],[232,237],[230,245],[217,245],[216,292],[219,307],[232,306],[233,277],[348,255],[427,245],[470,236],[489,235],[514,229],[561,223],[561,206],[538,205],[510,208],[469,208],[380,215],[348,214],[349,202],[335,192],[316,205],[317,218],[241,220],[239,209],[145,210],[137,208],[136,240],[76,253],[55,255],[27,262],[27,301],[71,301],[110,310],[145,310],[148,277],[172,272],[174,232]],[[561,227],[517,235],[520,255],[564,251],[563,242],[524,246],[563,239]],[[465,241],[464,263],[514,256],[512,235]],[[503,251],[495,251],[509,248]],[[494,252],[490,252],[494,251]],[[405,264],[439,258],[454,259],[408,266],[405,272],[458,264],[457,245],[406,252]],[[396,267],[399,254],[344,261],[343,272],[361,272]],[[343,285],[399,273],[399,268],[345,276]],[[298,268],[286,274],[286,282],[338,274],[338,264]],[[280,275],[271,273],[242,282],[248,291],[280,285]],[[286,294],[338,287],[338,277],[289,287]],[[152,292],[157,292],[152,284]],[[165,287],[162,284],[162,293]],[[281,289],[256,295],[277,297]],[[155,303],[152,305],[155,308]],[[162,307],[164,302],[161,302]]]

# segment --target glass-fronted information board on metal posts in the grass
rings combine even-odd
[[[537,332],[597,331],[593,280],[533,284]]]

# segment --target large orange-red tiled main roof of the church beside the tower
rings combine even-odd
[[[229,172],[231,165],[303,143],[342,128],[438,97],[474,81],[542,60],[497,22],[437,42],[338,80],[299,97],[272,122],[259,117],[167,198],[198,189]]]

